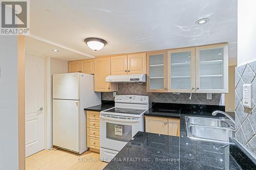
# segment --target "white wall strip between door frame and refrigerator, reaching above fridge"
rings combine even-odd
[[[67,73],[68,72],[68,61],[63,61],[63,60],[58,60],[58,59],[54,59],[51,58],[50,59],[50,63],[51,63],[51,90],[52,90],[52,75],[53,74],[61,74],[61,73]],[[51,106],[50,108],[52,108],[52,91],[51,91]],[[51,109],[51,122],[52,122],[52,109]],[[50,132],[52,133],[52,124],[50,125]],[[52,136],[52,134],[51,134]],[[50,143],[51,147],[52,147],[52,138],[51,138],[51,143]]]

